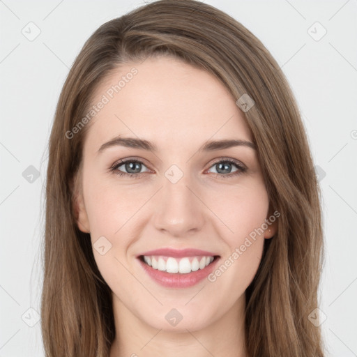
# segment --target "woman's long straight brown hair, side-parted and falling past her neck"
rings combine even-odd
[[[278,63],[248,29],[205,3],[162,0],[96,30],[61,91],[49,143],[46,183],[42,333],[47,357],[107,357],[115,336],[111,291],[74,209],[77,173],[90,123],[66,135],[93,103],[98,84],[121,63],[169,54],[218,77],[244,111],[257,146],[278,233],[248,287],[250,357],[321,357],[318,306],[323,258],[319,188],[296,101]],[[246,97],[245,97],[246,98]]]

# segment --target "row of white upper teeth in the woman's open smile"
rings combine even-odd
[[[149,266],[159,271],[166,271],[167,273],[181,273],[188,274],[191,271],[198,271],[203,269],[208,264],[211,264],[213,257],[185,257],[176,259],[173,257],[158,257],[158,256],[144,256],[144,261]]]

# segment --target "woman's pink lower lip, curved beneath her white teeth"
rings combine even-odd
[[[152,278],[155,282],[162,285],[163,287],[178,287],[178,288],[185,288],[185,287],[193,287],[194,285],[198,284],[201,280],[204,280],[209,274],[212,273],[217,261],[220,260],[216,258],[212,261],[211,264],[208,264],[203,269],[199,269],[198,271],[192,271],[191,273],[167,273],[166,271],[159,271],[158,269],[154,269],[148,264],[144,263],[141,259],[139,259],[140,264],[148,273],[150,278]]]

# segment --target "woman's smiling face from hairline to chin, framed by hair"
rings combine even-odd
[[[236,317],[275,224],[234,98],[206,71],[160,57],[121,66],[93,105],[77,222],[116,314],[168,331]]]

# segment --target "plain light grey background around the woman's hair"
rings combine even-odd
[[[36,314],[46,146],[61,86],[91,33],[142,3],[0,1],[0,357],[43,356]],[[357,356],[357,1],[206,3],[255,33],[296,95],[324,195],[326,356]],[[29,22],[40,29],[32,41]]]

